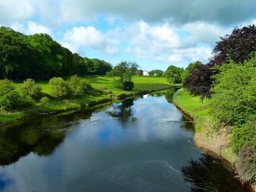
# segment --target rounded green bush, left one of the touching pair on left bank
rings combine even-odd
[[[49,85],[52,93],[59,98],[66,98],[70,94],[68,82],[64,81],[61,77],[51,78]]]

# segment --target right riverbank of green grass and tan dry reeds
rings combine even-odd
[[[207,100],[202,103],[199,96],[192,96],[182,88],[174,94],[173,101],[174,105],[195,123],[195,145],[203,152],[228,162],[229,170],[234,172],[238,157],[229,146],[231,134],[225,128],[214,131]],[[239,179],[239,176],[237,177]],[[251,190],[256,191],[255,184]]]

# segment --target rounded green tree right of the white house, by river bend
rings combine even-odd
[[[165,72],[165,77],[168,82],[172,84],[181,83],[181,74],[183,73],[183,68],[176,66],[169,66]]]

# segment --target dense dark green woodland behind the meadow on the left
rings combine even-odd
[[[112,65],[104,60],[72,53],[48,34],[27,36],[0,27],[0,79],[49,80],[73,74],[104,75],[111,69]]]

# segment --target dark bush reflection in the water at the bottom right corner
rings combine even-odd
[[[182,167],[185,181],[192,184],[192,192],[201,191],[239,191],[238,184],[232,174],[221,163],[209,156],[190,160],[189,166]]]

